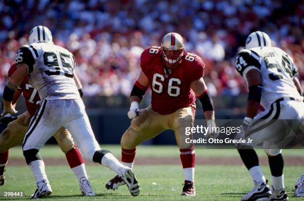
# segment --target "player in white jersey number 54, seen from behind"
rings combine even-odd
[[[274,141],[275,135],[280,136],[284,132],[284,125],[278,126],[274,119],[304,119],[302,89],[296,77],[297,67],[285,51],[271,47],[266,33],[257,31],[247,37],[246,49],[237,53],[235,68],[247,81],[249,89],[247,114],[242,124],[245,137],[251,138],[256,145],[263,143],[272,175],[270,189],[256,152],[248,145],[238,147],[240,157],[254,181],[252,191],[241,200],[287,201],[282,150]],[[265,111],[257,114],[260,103]]]

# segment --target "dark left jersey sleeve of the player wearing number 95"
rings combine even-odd
[[[37,50],[33,47],[22,46],[16,54],[16,65],[18,67],[21,64],[26,64],[28,66],[28,73],[31,73],[37,57]]]

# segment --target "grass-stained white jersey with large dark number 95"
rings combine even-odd
[[[34,43],[22,46],[16,63],[28,66],[28,81],[41,100],[80,99],[74,77],[73,54],[56,45]]]

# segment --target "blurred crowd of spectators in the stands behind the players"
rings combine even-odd
[[[168,32],[181,34],[186,50],[203,58],[213,96],[246,91],[234,56],[256,30],[294,58],[304,87],[304,1],[1,0],[1,89],[16,50],[37,25],[47,26],[54,43],[74,53],[86,96],[129,96],[141,52],[160,46]]]

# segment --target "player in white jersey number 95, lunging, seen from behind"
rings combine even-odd
[[[6,111],[13,113],[13,94],[26,74],[42,100],[22,144],[23,155],[38,187],[31,198],[42,198],[52,193],[39,150],[62,126],[70,131],[85,158],[119,174],[128,184],[131,195],[137,196],[140,189],[132,170],[122,165],[110,151],[101,150],[94,137],[77,91],[81,84],[75,73],[73,54],[53,44],[47,27],[37,26],[30,32],[29,44],[18,50],[16,64],[17,70],[3,92]]]

